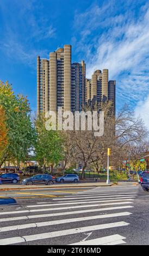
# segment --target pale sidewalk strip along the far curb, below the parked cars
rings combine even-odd
[[[11,190],[30,190],[30,189],[43,189],[43,188],[69,188],[69,187],[107,187],[112,186],[113,183],[107,184],[106,182],[78,182],[78,183],[72,183],[72,184],[61,184],[56,183],[51,186],[47,185],[32,185],[32,186],[26,186],[21,184],[1,184],[0,185],[0,191],[11,191]]]

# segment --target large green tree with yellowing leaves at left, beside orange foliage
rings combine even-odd
[[[0,105],[4,108],[8,128],[8,144],[1,157],[0,166],[10,157],[19,164],[26,159],[35,141],[30,106],[27,97],[16,96],[8,82],[0,82]]]

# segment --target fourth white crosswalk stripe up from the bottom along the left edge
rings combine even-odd
[[[97,206],[119,205],[119,204],[133,204],[133,202],[127,201],[127,202],[116,202],[116,203],[107,203],[107,204],[87,204],[87,205],[66,206],[66,207],[59,207],[59,208],[46,208],[46,209],[34,209],[34,210],[22,210],[22,211],[7,211],[7,212],[0,212],[0,215],[22,214],[23,212],[58,211],[58,210],[74,209],[74,208],[76,208],[76,209],[77,208],[91,208],[91,207],[97,207]]]

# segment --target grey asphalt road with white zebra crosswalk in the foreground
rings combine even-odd
[[[1,191],[20,199],[0,205],[0,245],[149,245],[149,192],[140,186],[16,193]]]

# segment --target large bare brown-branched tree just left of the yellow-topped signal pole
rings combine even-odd
[[[94,135],[92,131],[74,131],[73,132],[73,158],[76,162],[82,164],[82,174],[80,179],[83,178],[86,168],[94,167],[96,170],[103,166],[107,148],[114,143],[115,136],[115,123],[112,113],[112,102],[102,102],[94,105],[85,105],[84,111],[104,111],[104,135],[101,137]],[[98,170],[99,170],[98,169]]]

